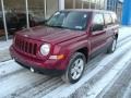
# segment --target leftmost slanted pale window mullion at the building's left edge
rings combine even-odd
[[[2,7],[2,15],[3,15],[3,25],[4,25],[4,32],[5,32],[5,39],[8,41],[8,27],[7,27],[7,21],[5,21],[5,10],[4,10],[3,0],[1,0],[1,7]]]

